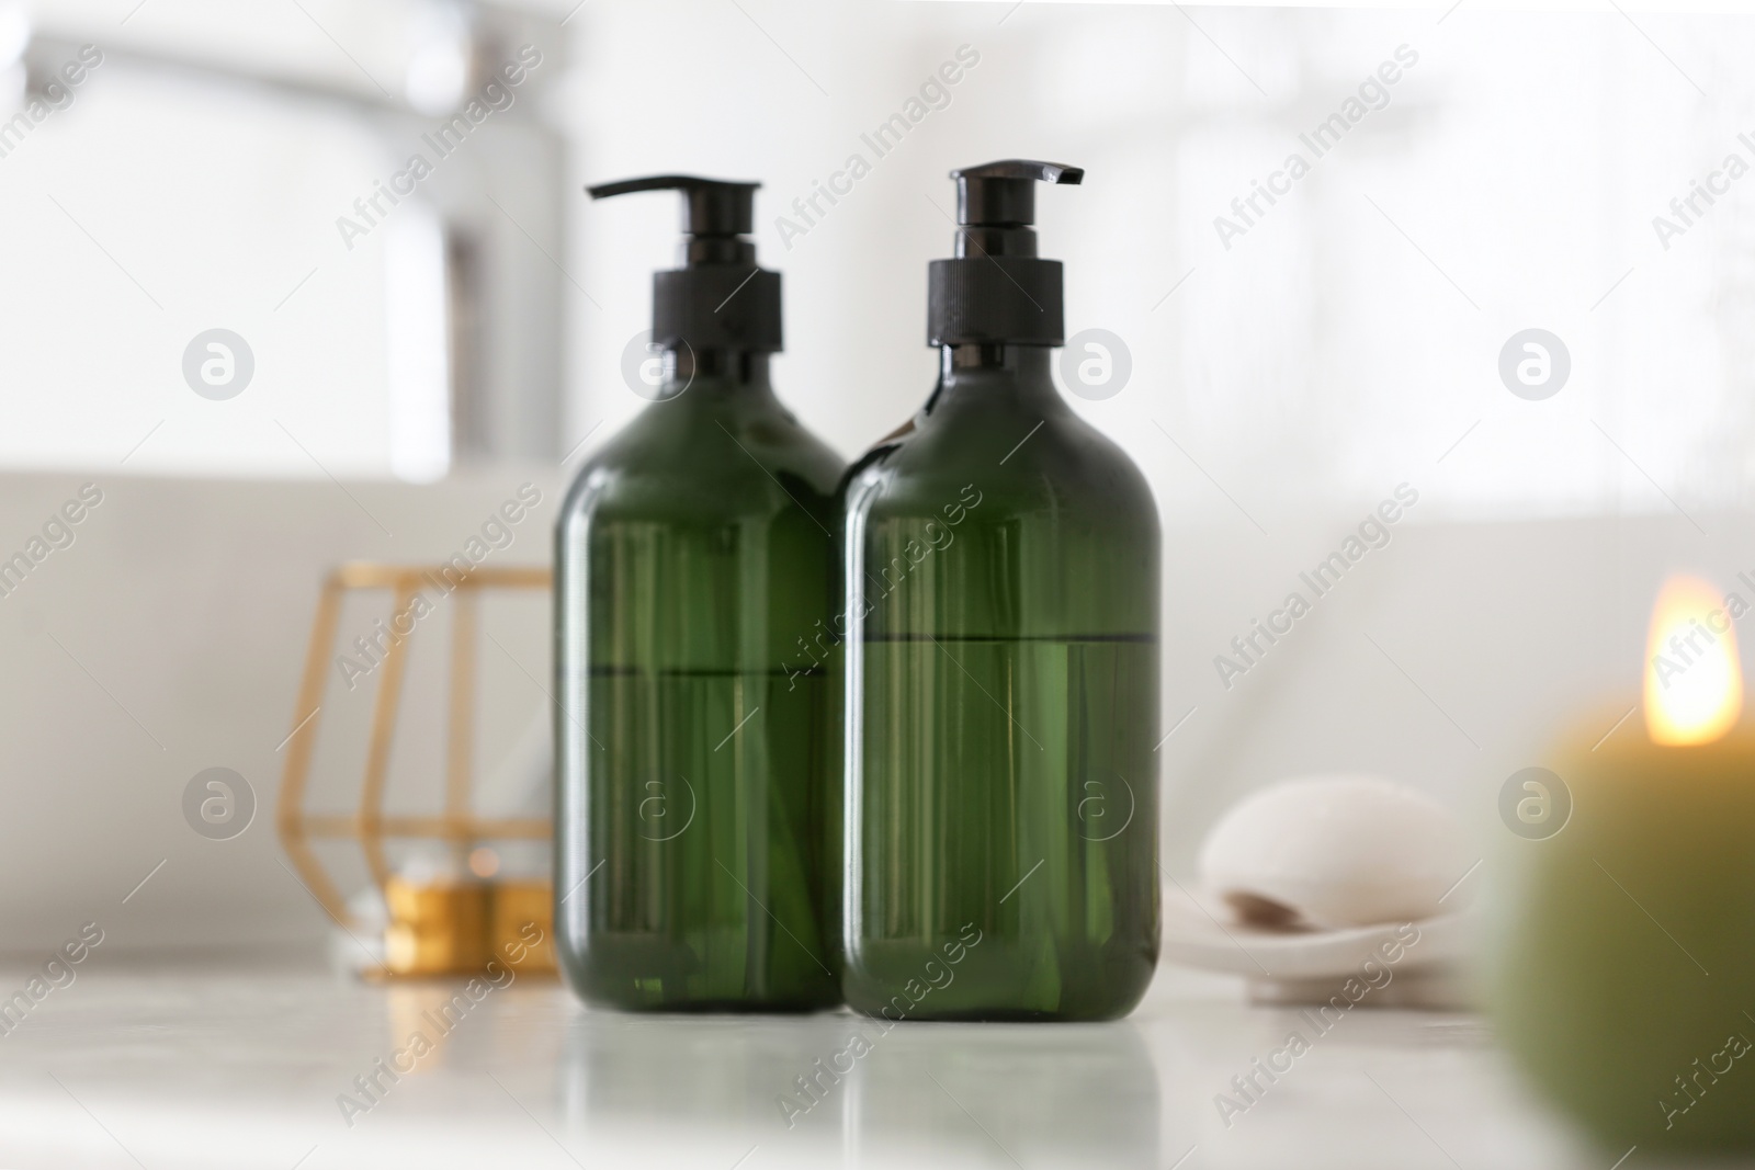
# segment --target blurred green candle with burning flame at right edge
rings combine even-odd
[[[1497,1031],[1613,1154],[1755,1149],[1755,731],[1734,619],[1673,579],[1651,616],[1644,719],[1564,740],[1565,826],[1513,840]],[[1622,709],[1625,710],[1625,709]]]

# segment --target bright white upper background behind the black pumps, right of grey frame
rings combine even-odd
[[[786,274],[779,384],[848,454],[930,388],[925,263],[951,242],[946,172],[1016,154],[1088,170],[1039,193],[1042,253],[1067,263],[1069,332],[1120,335],[1134,370],[1076,405],[1146,468],[1165,516],[1243,510],[1274,530],[1313,496],[1365,503],[1415,475],[1432,514],[1474,519],[1674,516],[1665,493],[1687,510],[1755,502],[1755,184],[1697,203],[1667,249],[1653,230],[1725,154],[1755,163],[1737,140],[1755,21],[1437,16],[590,4],[569,23],[560,116],[579,182],[765,182],[762,256]],[[872,158],[860,135],[965,44],[979,65],[949,103],[783,244],[792,200],[849,153]],[[1367,81],[1364,116],[1318,158],[1300,135]],[[1232,200],[1292,153],[1311,172],[1239,216]],[[597,303],[572,302],[572,433],[641,405],[616,363],[646,326],[649,270],[674,258],[672,203],[577,203],[570,267]],[[1246,232],[1221,240],[1220,216]],[[1571,353],[1546,402],[1499,377],[1525,328]]]

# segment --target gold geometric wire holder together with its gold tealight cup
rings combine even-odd
[[[384,968],[390,975],[441,975],[479,972],[490,958],[511,961],[507,951],[521,958],[521,972],[553,970],[553,933],[549,921],[551,888],[530,881],[444,881],[414,884],[391,872],[384,856],[388,838],[428,838],[448,842],[462,856],[486,840],[549,840],[549,817],[483,817],[470,810],[470,761],[476,735],[476,642],[479,602],[484,589],[549,589],[548,568],[476,567],[460,572],[453,565],[379,565],[353,561],[335,568],[323,582],[318,616],[305,653],[305,674],[293,710],[288,737],[286,770],[281,777],[281,803],[276,816],[281,845],[298,875],[344,930],[362,923],[347,909],[321,860],[312,838],[351,838],[360,842],[367,872],[390,910]],[[451,668],[446,717],[444,810],[437,816],[384,816],[384,781],[390,772],[390,746],[402,700],[402,677],[412,630],[384,649],[377,670],[377,695],[365,749],[360,802],[349,812],[305,812],[305,786],[323,698],[326,663],[335,649],[335,628],[344,595],[351,589],[388,589],[391,621],[414,603],[423,586],[442,584],[451,596]],[[539,945],[528,944],[532,926]]]

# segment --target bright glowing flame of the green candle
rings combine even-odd
[[[1711,744],[1743,714],[1737,639],[1723,596],[1671,577],[1651,605],[1644,709],[1653,744]]]

